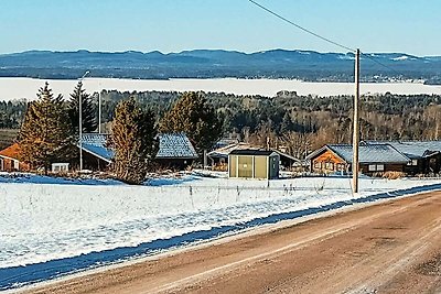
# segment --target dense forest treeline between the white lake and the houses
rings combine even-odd
[[[144,109],[161,119],[182,96],[178,91],[103,91],[103,122],[111,121],[116,105],[133,97]],[[205,92],[223,121],[226,138],[284,146],[303,157],[325,143],[352,140],[352,96],[299,96],[280,91],[275,97]],[[93,102],[97,105],[97,94]],[[441,96],[368,95],[362,97],[362,140],[439,140],[441,138]],[[19,128],[26,105],[0,102],[0,128]]]

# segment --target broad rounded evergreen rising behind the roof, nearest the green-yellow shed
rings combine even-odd
[[[185,92],[160,122],[161,132],[184,132],[202,154],[222,137],[222,121],[201,92]]]

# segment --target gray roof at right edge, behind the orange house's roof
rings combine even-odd
[[[412,160],[424,157],[431,152],[441,152],[441,141],[366,141],[366,144],[389,144]]]

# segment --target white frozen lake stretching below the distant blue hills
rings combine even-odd
[[[49,81],[54,94],[64,97],[73,91],[77,80],[75,79],[34,79],[34,78],[0,78],[0,100],[36,98],[36,92],[44,83]],[[106,90],[120,91],[217,91],[236,95],[262,95],[273,97],[280,90],[297,91],[298,95],[336,96],[352,95],[352,83],[309,83],[292,79],[117,79],[117,78],[85,78],[83,80],[87,92]],[[441,86],[429,86],[421,83],[362,83],[362,94],[394,92],[402,95],[438,94],[441,95]]]

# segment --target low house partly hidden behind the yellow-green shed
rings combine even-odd
[[[213,150],[212,152],[208,152],[207,156],[211,160],[212,166],[220,167],[219,170],[223,170],[222,167],[225,167],[226,171],[228,166],[228,155],[230,152],[236,150],[261,150],[261,146],[256,146],[248,143],[234,143]],[[295,164],[300,164],[301,162],[299,159],[295,159],[294,156],[291,156],[279,150],[273,150],[273,152],[279,154],[280,156],[279,164],[284,170],[291,170],[292,166],[294,166]]]

